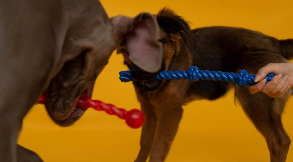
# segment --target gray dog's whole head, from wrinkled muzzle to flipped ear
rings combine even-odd
[[[82,47],[78,52],[80,54],[65,61],[46,90],[47,112],[60,126],[70,126],[82,116],[85,109],[75,106],[78,98],[83,95],[91,97],[97,76],[121,43],[121,47],[130,51],[132,61],[144,70],[158,71],[161,65],[160,61],[151,62],[162,57],[161,45],[157,41],[159,27],[151,14],[141,13],[134,18],[116,16],[109,21],[112,28],[102,26],[96,29],[100,37],[98,43],[91,44],[89,41],[79,45]],[[137,51],[138,47],[148,50]],[[152,57],[137,56],[148,55],[148,52],[153,53]]]

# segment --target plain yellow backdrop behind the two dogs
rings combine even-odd
[[[236,26],[258,30],[278,39],[293,38],[293,1],[180,1],[102,0],[109,16],[157,13],[169,6],[191,22],[191,27]],[[93,98],[126,109],[139,108],[131,83],[121,83],[126,70],[122,56],[113,54],[96,81]],[[268,162],[264,138],[254,128],[230,91],[217,101],[196,101],[184,107],[183,119],[167,162]],[[293,97],[283,115],[293,138]],[[36,151],[45,162],[131,162],[139,151],[140,129],[105,112],[88,110],[74,126],[60,128],[41,105],[33,107],[23,122],[19,144]],[[287,161],[293,161],[289,150]]]

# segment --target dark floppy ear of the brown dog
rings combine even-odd
[[[188,23],[169,8],[163,8],[157,14],[159,26],[170,36],[173,41],[181,39],[182,32],[190,34]]]

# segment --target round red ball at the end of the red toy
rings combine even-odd
[[[144,124],[144,113],[138,109],[132,109],[125,114],[125,121],[128,126],[137,129]]]

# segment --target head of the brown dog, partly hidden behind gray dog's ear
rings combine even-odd
[[[190,27],[183,18],[167,8],[163,8],[158,14],[154,15],[154,17],[160,27],[158,41],[163,46],[163,60],[158,72],[149,73],[142,70],[129,59],[127,50],[123,48],[117,49],[117,53],[123,55],[124,64],[131,70],[132,75],[139,79],[139,83],[135,82],[134,84],[142,86],[144,90],[147,91],[157,90],[166,82],[154,78],[162,70],[173,70],[171,63],[173,58],[179,55],[182,34],[183,32],[190,33]]]

